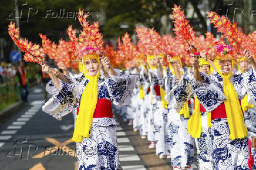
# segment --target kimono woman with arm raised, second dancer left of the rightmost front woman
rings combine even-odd
[[[187,121],[190,117],[188,99],[191,98],[190,80],[184,76],[181,61],[177,56],[168,57],[171,70],[176,79],[166,85],[168,103],[168,121],[170,131],[171,165],[174,169],[191,169],[194,161],[194,139],[187,132]]]

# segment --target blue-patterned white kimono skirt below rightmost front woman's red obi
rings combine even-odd
[[[214,169],[249,169],[248,138],[230,140],[227,118],[211,121]]]

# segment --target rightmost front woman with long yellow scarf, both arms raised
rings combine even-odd
[[[225,56],[229,55],[225,52]],[[213,143],[213,169],[248,168],[248,131],[244,123],[240,100],[248,94],[248,101],[255,104],[256,63],[250,55],[245,58],[254,69],[247,73],[234,73],[234,60],[215,60],[217,72],[213,76],[200,73],[198,59],[193,57],[194,93],[208,113],[211,112],[211,139]]]

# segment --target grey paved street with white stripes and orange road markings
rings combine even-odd
[[[57,121],[43,113],[40,86],[31,89],[29,106],[21,108],[0,127],[0,169],[76,169],[73,117]],[[170,159],[159,159],[149,142],[117,118],[117,141],[122,169],[172,169]],[[21,152],[22,151],[22,152]],[[195,163],[196,164],[196,163]],[[196,166],[194,166],[196,167]]]

